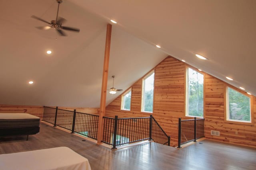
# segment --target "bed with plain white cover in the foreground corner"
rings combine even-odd
[[[88,159],[68,147],[0,154],[1,170],[91,170]]]

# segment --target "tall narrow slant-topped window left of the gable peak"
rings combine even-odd
[[[153,98],[154,98],[154,72],[148,74],[142,80],[142,102],[141,111],[153,112]]]

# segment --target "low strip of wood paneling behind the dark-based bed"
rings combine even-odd
[[[42,106],[13,106],[0,105],[0,113],[29,113],[43,118],[44,107]]]

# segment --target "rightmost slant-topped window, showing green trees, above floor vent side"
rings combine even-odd
[[[248,96],[227,87],[226,100],[226,118],[228,121],[251,123],[251,106]]]

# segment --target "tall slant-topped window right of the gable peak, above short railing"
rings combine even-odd
[[[204,116],[204,75],[187,69],[186,116]]]

